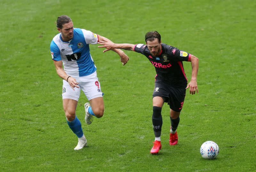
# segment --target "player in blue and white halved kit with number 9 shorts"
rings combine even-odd
[[[74,28],[72,20],[62,15],[56,23],[59,34],[51,42],[52,60],[60,78],[63,79],[62,100],[69,128],[78,137],[75,150],[87,145],[81,122],[76,117],[76,106],[80,90],[84,92],[90,103],[85,103],[85,122],[92,123],[93,116],[100,118],[104,113],[104,102],[97,78],[96,66],[90,54],[89,44],[98,41],[109,41],[107,38],[85,29]],[[120,49],[114,49],[121,62],[126,64],[128,56]],[[64,69],[62,68],[62,64]]]

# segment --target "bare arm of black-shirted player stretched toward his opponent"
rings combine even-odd
[[[125,49],[125,50],[132,51],[134,47],[134,44],[115,44],[110,41],[99,41],[98,44],[103,45],[103,46],[98,46],[99,48],[106,48],[104,49],[103,53],[113,49]]]

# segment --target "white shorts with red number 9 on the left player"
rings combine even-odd
[[[79,88],[75,87],[75,91],[71,88],[66,80],[63,79],[62,86],[62,99],[73,99],[78,101],[80,97],[81,89],[84,92],[88,100],[94,99],[96,97],[102,97],[102,92],[100,89],[100,82],[97,78],[96,71],[90,75],[84,77],[73,77],[78,82]]]

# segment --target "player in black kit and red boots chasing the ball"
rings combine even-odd
[[[98,43],[106,48],[103,52],[111,49],[125,49],[136,51],[143,54],[156,68],[156,81],[153,91],[153,115],[152,123],[155,133],[155,142],[150,153],[155,154],[162,148],[161,129],[162,115],[161,110],[164,102],[170,105],[170,145],[178,143],[177,127],[180,122],[180,111],[182,109],[186,89],[189,88],[190,94],[198,93],[196,76],[198,72],[198,58],[175,47],[161,42],[161,36],[157,31],[148,32],[145,35],[146,45],[144,44],[115,44],[112,42],[99,41]],[[191,62],[192,76],[188,83],[182,61]],[[187,85],[188,84],[188,85]]]

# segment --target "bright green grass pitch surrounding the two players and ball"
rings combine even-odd
[[[1,171],[254,171],[255,1],[1,1]],[[199,58],[199,94],[187,96],[177,146],[169,146],[169,106],[162,110],[162,145],[153,146],[152,92],[155,70],[141,54],[122,66],[114,52],[91,45],[105,93],[105,114],[84,122],[81,93],[76,114],[88,146],[74,151],[76,135],[62,109],[62,81],[50,55],[55,19],[116,43],[144,43],[157,30],[162,42]],[[191,64],[184,62],[187,78]],[[216,142],[215,160],[199,148]]]

